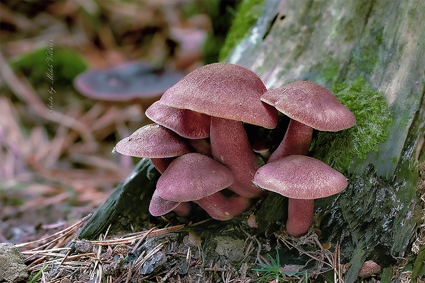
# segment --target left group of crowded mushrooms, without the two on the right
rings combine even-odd
[[[252,71],[215,63],[189,73],[147,108],[155,123],[121,140],[115,150],[151,158],[162,174],[151,214],[186,215],[193,201],[214,219],[228,220],[265,195],[252,182],[259,165],[243,123],[276,127],[277,110],[260,100],[266,90]],[[232,193],[223,194],[225,189]]]

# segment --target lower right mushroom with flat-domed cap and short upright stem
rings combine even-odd
[[[287,231],[292,236],[306,234],[313,223],[314,199],[335,195],[348,186],[345,176],[328,164],[301,155],[265,164],[254,182],[289,197]]]

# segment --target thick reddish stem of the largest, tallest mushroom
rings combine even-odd
[[[230,190],[249,198],[265,194],[264,190],[260,190],[252,182],[258,164],[241,121],[212,116],[210,143],[214,159],[234,174]]]

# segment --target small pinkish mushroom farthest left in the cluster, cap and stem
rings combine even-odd
[[[123,138],[114,148],[127,156],[151,158],[163,173],[175,156],[191,152],[191,147],[175,132],[158,124],[149,124]]]

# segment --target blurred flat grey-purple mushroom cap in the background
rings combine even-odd
[[[108,69],[86,71],[75,78],[74,85],[87,97],[138,101],[146,109],[183,76],[177,71],[158,71],[148,64],[127,62]]]

